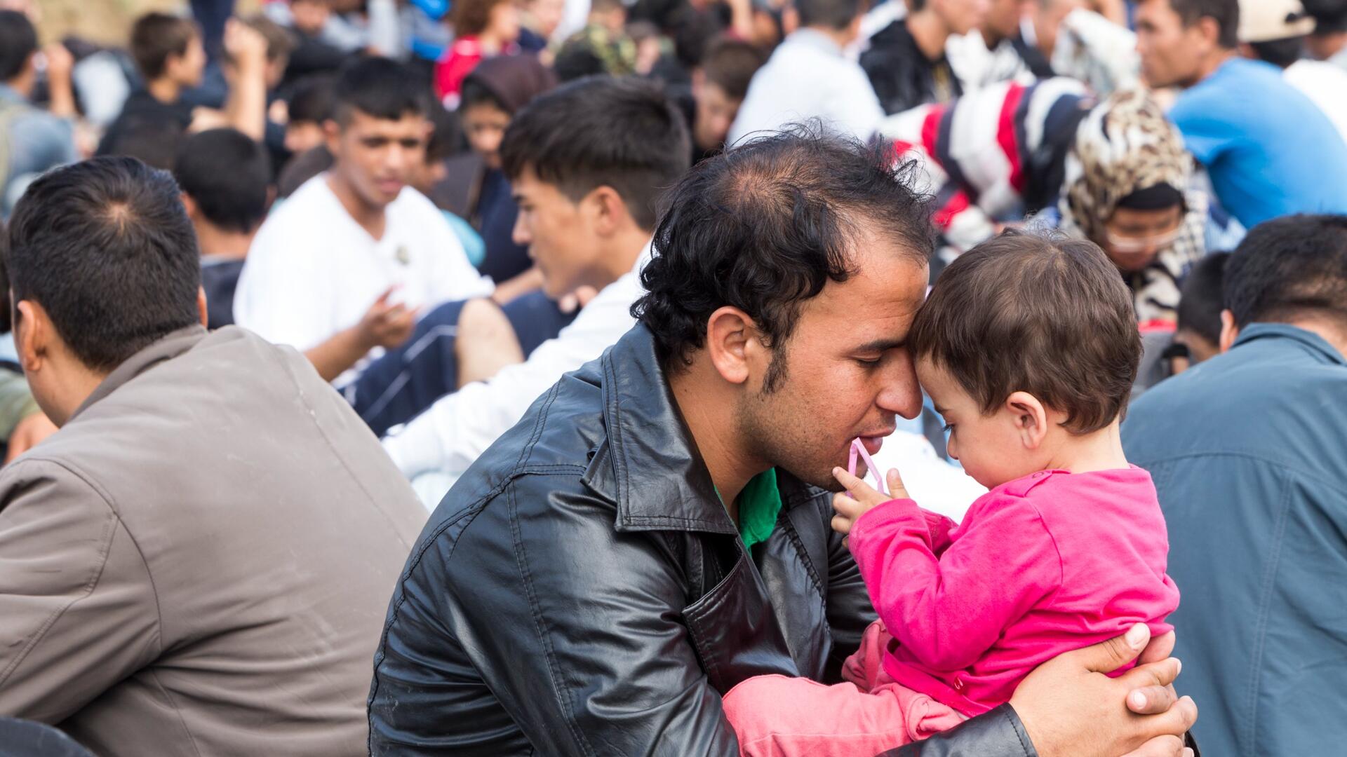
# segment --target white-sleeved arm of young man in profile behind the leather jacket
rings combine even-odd
[[[408,478],[467,470],[497,436],[524,418],[539,395],[564,373],[617,343],[634,323],[629,308],[638,292],[636,276],[626,273],[585,306],[555,339],[539,345],[527,361],[440,399],[401,432],[384,439],[384,449]]]

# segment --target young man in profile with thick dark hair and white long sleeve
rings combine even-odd
[[[528,245],[550,298],[581,288],[597,295],[556,338],[524,350],[525,362],[501,368],[492,354],[501,350],[498,341],[477,339],[488,354],[473,360],[489,369],[474,377],[488,380],[443,399],[453,385],[409,384],[412,415],[434,405],[385,440],[404,474],[457,477],[563,373],[594,360],[630,329],[629,308],[640,296],[636,269],[655,230],[656,202],[687,170],[688,144],[674,105],[653,84],[634,79],[579,79],[539,97],[511,121],[501,164],[520,206],[515,240]],[[505,322],[509,306],[505,314],[482,314],[496,315],[497,333],[515,331],[519,321]],[[523,346],[525,339],[520,334]],[[361,415],[369,419],[369,412],[385,409]],[[438,501],[447,489],[442,481],[424,497]]]

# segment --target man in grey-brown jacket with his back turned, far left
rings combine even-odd
[[[100,158],[18,203],[5,271],[61,427],[0,471],[0,715],[98,754],[361,754],[424,511],[292,349],[207,333],[172,178]]]

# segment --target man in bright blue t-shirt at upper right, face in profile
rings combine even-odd
[[[1246,228],[1347,213],[1347,143],[1269,63],[1238,57],[1238,0],[1142,0],[1137,50],[1150,86],[1181,86],[1169,117]]]

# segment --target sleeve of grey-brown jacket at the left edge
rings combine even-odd
[[[150,568],[58,463],[12,463],[0,497],[0,714],[59,723],[159,653]]]

